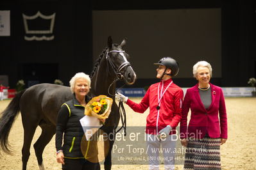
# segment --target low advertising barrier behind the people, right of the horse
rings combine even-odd
[[[185,93],[188,88],[182,88]],[[253,87],[242,88],[222,88],[225,97],[253,97],[252,91],[255,91]],[[119,93],[122,93],[126,97],[144,97],[146,91],[144,88],[121,88],[117,89]]]

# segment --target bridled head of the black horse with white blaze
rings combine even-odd
[[[126,42],[127,39],[124,38],[120,45],[113,44],[111,36],[108,36],[108,69],[110,72],[114,73],[118,79],[123,79],[126,84],[132,85],[136,80],[136,74],[127,60],[129,55],[123,50]]]

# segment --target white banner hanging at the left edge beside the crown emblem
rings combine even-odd
[[[0,11],[0,36],[10,36],[10,11]]]

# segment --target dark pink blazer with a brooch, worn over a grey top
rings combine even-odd
[[[201,139],[208,133],[212,138],[228,138],[226,106],[223,91],[218,86],[210,84],[212,103],[205,109],[201,102],[198,84],[187,89],[182,107],[180,121],[180,138],[195,137]],[[187,114],[191,109],[191,120],[187,126]]]

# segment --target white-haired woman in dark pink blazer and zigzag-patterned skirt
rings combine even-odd
[[[221,169],[220,145],[228,137],[223,91],[210,84],[212,66],[206,61],[196,63],[193,74],[198,84],[187,89],[180,121],[181,143],[187,147],[184,169]]]

